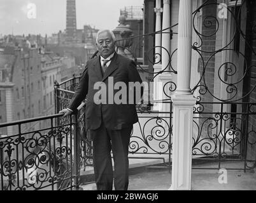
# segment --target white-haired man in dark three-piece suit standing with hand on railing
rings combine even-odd
[[[71,114],[87,96],[85,124],[92,135],[97,190],[112,190],[113,177],[115,190],[127,190],[129,141],[132,125],[138,122],[138,115],[136,103],[116,103],[113,100],[113,95],[120,89],[113,88],[110,81],[114,84],[123,82],[127,87],[126,92],[130,89],[129,82],[141,84],[142,81],[136,64],[115,52],[115,35],[111,30],[99,30],[96,45],[99,56],[87,62],[69,107],[61,110],[60,113],[64,113],[64,116]],[[106,98],[104,100],[101,98],[103,100],[101,103],[96,99],[99,89],[95,84],[99,82],[106,85],[106,88],[102,89],[106,91],[104,92]],[[126,97],[125,100],[128,100],[127,95]],[[114,176],[111,150],[115,166]]]

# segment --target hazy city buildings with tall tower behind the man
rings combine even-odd
[[[141,34],[138,33],[138,19],[142,30],[141,8],[120,9],[120,15],[125,16],[136,34]],[[134,20],[136,23],[132,24]],[[92,25],[77,29],[76,1],[66,0],[65,30],[59,30],[52,36],[0,36],[0,123],[55,114],[55,82],[64,82],[82,74],[87,60],[96,53],[98,30]],[[23,128],[41,129],[47,125],[44,121],[32,126],[29,123]],[[1,136],[18,130],[13,127],[4,129],[0,131]]]

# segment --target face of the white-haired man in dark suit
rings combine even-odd
[[[110,32],[101,32],[96,42],[97,50],[103,58],[108,58],[115,51],[115,43]]]

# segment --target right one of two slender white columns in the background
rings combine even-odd
[[[170,0],[164,0],[163,6],[163,16],[162,16],[162,70],[169,70],[169,60],[171,52],[171,18],[170,18]],[[167,29],[169,28],[169,29]]]

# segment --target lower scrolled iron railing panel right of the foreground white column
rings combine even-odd
[[[256,131],[248,128],[248,117],[256,117],[256,103],[236,103],[245,106],[245,112],[228,113],[225,109],[232,103],[216,102],[220,111],[207,112],[200,103],[194,107],[194,134],[192,155],[194,159],[218,160],[218,169],[225,160],[243,161],[239,169],[253,169],[254,157],[248,157],[248,151],[255,146]]]

